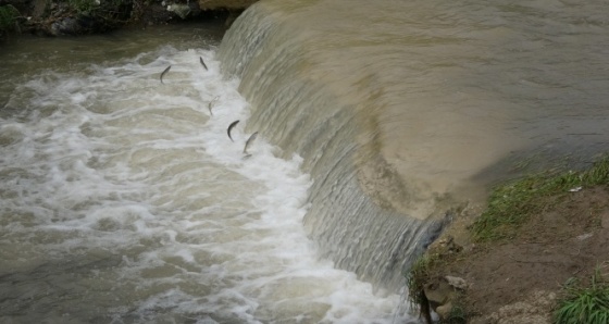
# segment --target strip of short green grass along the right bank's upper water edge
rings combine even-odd
[[[513,237],[521,224],[545,208],[543,198],[560,197],[570,189],[609,184],[609,155],[581,172],[543,173],[496,187],[488,205],[472,225],[476,241]]]

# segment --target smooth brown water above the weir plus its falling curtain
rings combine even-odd
[[[252,105],[247,127],[304,159],[309,236],[381,287],[403,283],[447,211],[482,201],[506,161],[607,149],[607,73],[569,63],[606,62],[592,40],[606,27],[573,23],[569,8],[434,3],[262,1],[219,51]],[[532,32],[537,20],[558,30]],[[586,84],[591,96],[575,90]]]

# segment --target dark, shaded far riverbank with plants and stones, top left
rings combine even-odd
[[[229,26],[256,1],[8,0],[0,5],[0,41],[20,34],[77,36],[194,20],[223,20]]]

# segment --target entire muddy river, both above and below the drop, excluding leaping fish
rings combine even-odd
[[[447,210],[609,149],[608,9],[264,0],[0,49],[0,322],[417,321]]]

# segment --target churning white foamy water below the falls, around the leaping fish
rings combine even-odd
[[[45,70],[10,94],[1,322],[413,321],[399,296],[319,260],[301,159],[275,158],[263,133],[244,154],[249,107],[219,65],[164,47]]]

